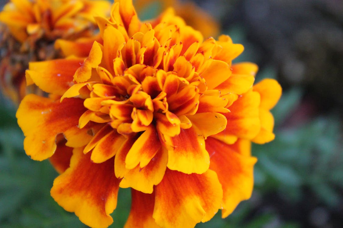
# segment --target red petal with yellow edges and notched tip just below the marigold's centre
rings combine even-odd
[[[161,148],[154,126],[149,126],[145,132],[134,142],[125,158],[127,169],[133,169],[139,164],[140,168],[146,166]]]

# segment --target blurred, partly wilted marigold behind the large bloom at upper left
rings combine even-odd
[[[28,62],[62,57],[54,50],[55,40],[93,36],[96,29],[93,16],[106,16],[109,8],[105,0],[11,0],[7,3],[0,12],[3,93],[15,103],[26,93],[39,93],[35,86],[25,89]]]

